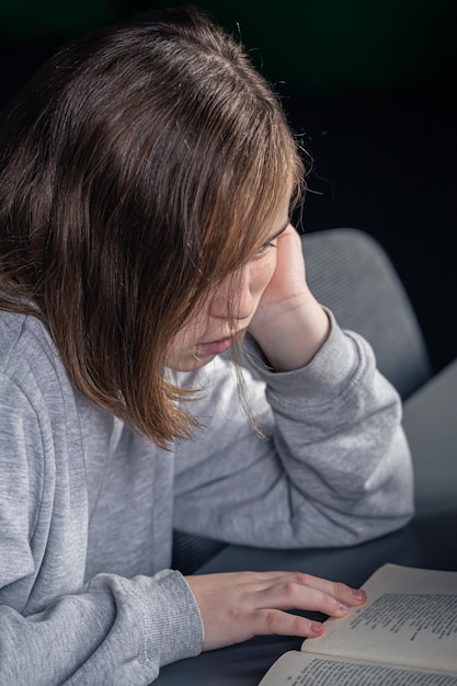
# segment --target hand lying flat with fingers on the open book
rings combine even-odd
[[[344,617],[350,607],[366,601],[364,591],[299,572],[232,572],[186,581],[202,614],[204,650],[272,633],[313,638],[323,633],[322,622],[284,610]]]

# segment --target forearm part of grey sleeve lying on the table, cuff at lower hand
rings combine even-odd
[[[201,624],[176,571],[98,575],[34,615],[0,605],[0,682],[146,686],[161,666],[201,652]]]

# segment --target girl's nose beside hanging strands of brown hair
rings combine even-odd
[[[250,319],[255,311],[256,301],[251,268],[247,264],[217,287],[209,313],[218,319]]]

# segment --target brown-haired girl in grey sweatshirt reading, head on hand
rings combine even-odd
[[[148,684],[323,631],[289,607],[364,602],[301,573],[170,569],[173,528],[343,546],[412,514],[398,396],[307,287],[302,173],[270,87],[192,9],[62,48],[5,114],[2,684]]]

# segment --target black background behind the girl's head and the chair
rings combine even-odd
[[[0,0],[0,105],[75,35],[183,2]],[[306,231],[355,227],[390,255],[435,371],[457,356],[454,0],[203,0],[281,93],[315,170]]]

